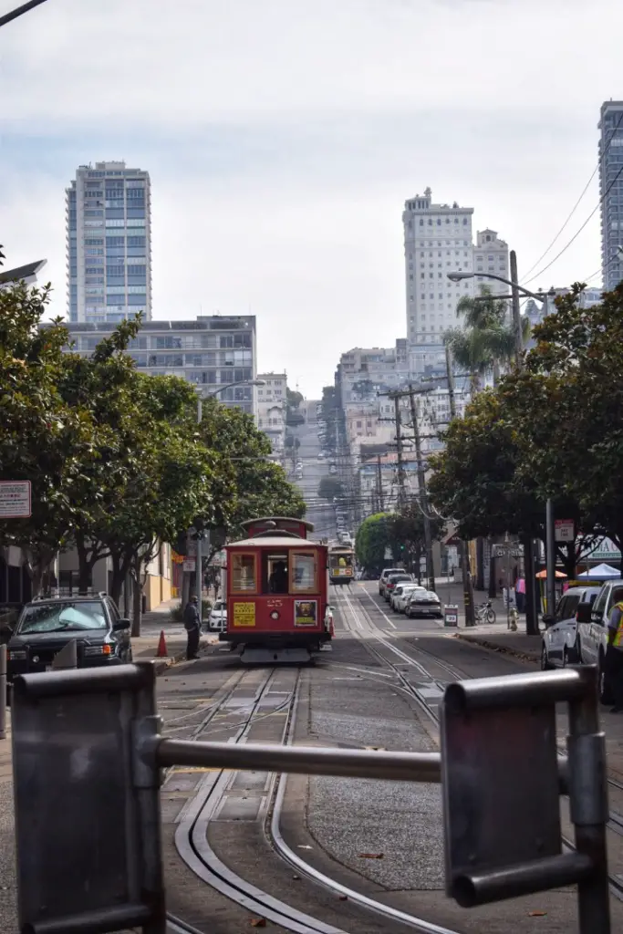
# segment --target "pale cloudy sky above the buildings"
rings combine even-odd
[[[0,14],[21,0],[0,0]],[[154,318],[257,316],[308,398],[406,331],[404,201],[474,207],[532,289],[599,285],[617,0],[47,0],[0,29],[0,243],[65,313],[79,164],[151,177]],[[535,276],[536,277],[532,277]]]

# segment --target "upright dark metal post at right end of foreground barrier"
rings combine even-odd
[[[569,799],[575,849],[590,858],[593,871],[578,882],[578,929],[580,934],[610,934],[605,739],[600,731],[596,670],[582,669],[582,674],[591,685],[584,697],[569,703]]]

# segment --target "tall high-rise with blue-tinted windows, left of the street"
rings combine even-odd
[[[149,172],[122,162],[80,165],[66,189],[67,317],[151,318]]]

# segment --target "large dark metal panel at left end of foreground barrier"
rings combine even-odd
[[[15,679],[24,934],[164,931],[158,775],[135,756],[136,724],[155,715],[154,679],[151,664]]]

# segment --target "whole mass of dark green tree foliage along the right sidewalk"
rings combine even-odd
[[[569,569],[603,535],[623,545],[623,286],[590,308],[583,288],[557,299],[525,367],[475,396],[431,459],[432,502],[463,537],[542,536],[551,498],[581,533]]]

